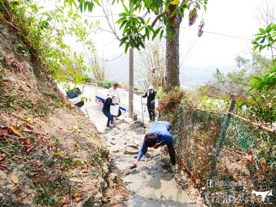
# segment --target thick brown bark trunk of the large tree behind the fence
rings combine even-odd
[[[180,86],[179,84],[179,26],[182,21],[182,16],[179,12],[175,17],[169,18],[169,12],[167,19],[175,26],[171,27],[173,32],[173,40],[166,35],[166,90],[170,90],[172,87]]]

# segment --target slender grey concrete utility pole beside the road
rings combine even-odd
[[[133,119],[133,48],[129,49],[128,117]]]

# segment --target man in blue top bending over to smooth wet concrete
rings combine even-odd
[[[179,169],[175,161],[175,151],[173,147],[173,129],[167,121],[156,121],[149,132],[146,133],[143,140],[142,147],[138,153],[135,161],[131,163],[131,166],[136,166],[139,160],[148,150],[148,147],[158,149],[161,146],[167,145],[170,155],[170,166],[173,172],[179,172]]]

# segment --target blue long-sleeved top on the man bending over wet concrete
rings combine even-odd
[[[157,143],[160,143],[161,146],[164,146],[173,142],[173,136],[169,132],[169,127],[170,127],[170,123],[167,121],[156,121],[149,129],[148,133],[152,132],[157,134]],[[142,147],[137,156],[138,161],[143,157],[147,149],[148,148],[145,145],[145,139],[144,139]]]

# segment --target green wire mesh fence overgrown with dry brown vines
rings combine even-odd
[[[240,116],[178,108],[172,126],[179,165],[208,206],[276,206],[275,131]]]

